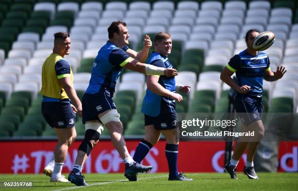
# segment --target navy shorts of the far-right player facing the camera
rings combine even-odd
[[[237,95],[234,106],[246,126],[262,118],[262,97]]]

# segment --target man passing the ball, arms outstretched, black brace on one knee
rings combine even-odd
[[[103,126],[110,132],[112,143],[125,163],[125,175],[132,172],[147,172],[152,169],[152,166],[143,166],[133,161],[122,135],[120,115],[112,100],[122,68],[149,75],[178,75],[175,69],[165,69],[139,62],[137,59],[146,59],[149,48],[143,48],[140,53],[128,48],[130,36],[125,22],[112,22],[108,31],[109,40],[99,50],[94,60],[89,86],[82,100],[86,133],[78,148],[74,169],[68,176],[69,181],[77,186],[87,186],[81,175],[82,166],[98,142]],[[144,40],[144,45],[148,42],[150,42],[149,37]]]

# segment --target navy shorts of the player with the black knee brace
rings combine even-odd
[[[83,124],[86,121],[99,120],[98,115],[111,109],[116,109],[111,94],[87,94],[82,98]],[[100,120],[99,120],[100,121]]]

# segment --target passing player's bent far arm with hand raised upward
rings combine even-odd
[[[128,49],[126,51],[126,53],[128,55],[130,55],[130,57],[132,58],[135,58],[137,60],[139,60],[140,62],[145,62],[145,60],[147,59],[148,57],[148,52],[149,52],[149,49],[151,48],[152,46],[152,41],[150,39],[150,37],[148,35],[145,35],[144,37],[144,46],[143,46],[143,49],[140,51],[140,52],[136,52],[132,49]]]

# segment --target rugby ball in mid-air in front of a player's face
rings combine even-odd
[[[254,39],[252,48],[257,51],[266,50],[273,44],[274,40],[275,40],[274,33],[270,31],[260,33],[260,35],[258,35]]]

